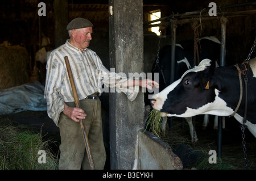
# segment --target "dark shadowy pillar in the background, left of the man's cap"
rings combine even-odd
[[[54,0],[54,24],[55,24],[55,48],[64,44],[69,39],[68,24],[68,0]]]

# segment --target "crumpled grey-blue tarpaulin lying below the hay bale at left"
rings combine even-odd
[[[44,86],[39,82],[0,90],[0,115],[22,111],[47,111]]]

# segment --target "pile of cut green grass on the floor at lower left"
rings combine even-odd
[[[58,159],[49,148],[50,140],[8,118],[0,119],[0,170],[56,170]],[[40,162],[40,150],[46,162]]]

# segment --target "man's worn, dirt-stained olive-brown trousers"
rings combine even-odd
[[[75,102],[66,104],[75,107]],[[95,169],[104,169],[106,151],[102,133],[100,99],[80,100],[80,106],[86,113],[84,125],[88,134]],[[61,138],[59,169],[91,169],[80,123],[73,121],[61,112],[59,128]]]

